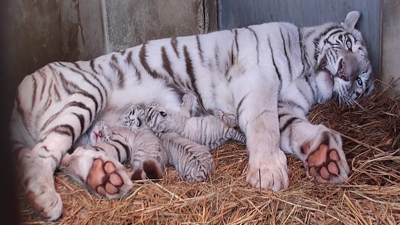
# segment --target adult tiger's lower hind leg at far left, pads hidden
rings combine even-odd
[[[58,127],[18,157],[26,200],[40,217],[49,221],[58,219],[62,213],[62,200],[54,187],[53,174],[63,152],[72,145],[71,138],[66,136],[69,132],[73,131]]]

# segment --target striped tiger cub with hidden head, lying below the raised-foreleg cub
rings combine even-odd
[[[201,182],[214,171],[214,158],[208,147],[177,133],[163,133],[160,139],[168,153],[170,165],[174,165],[184,181]]]

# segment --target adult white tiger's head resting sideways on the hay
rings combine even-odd
[[[360,12],[349,12],[340,26],[322,30],[314,39],[317,83],[324,82],[332,90],[328,98],[333,96],[340,104],[354,104],[374,89],[366,44],[355,29],[359,18]]]

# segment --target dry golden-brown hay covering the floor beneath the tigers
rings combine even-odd
[[[245,146],[228,143],[215,151],[216,171],[203,183],[185,183],[169,167],[158,183],[138,182],[128,196],[111,201],[57,173],[64,211],[56,223],[398,225],[400,96],[379,92],[360,104],[362,108],[329,102],[310,114],[312,123],[343,134],[352,170],[343,185],[315,183],[306,177],[302,162],[288,156],[287,190],[251,188],[245,181]],[[47,224],[24,204],[21,216],[26,224]]]

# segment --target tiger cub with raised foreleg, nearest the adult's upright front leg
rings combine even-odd
[[[184,94],[179,113],[166,112],[158,104],[146,108],[146,123],[155,133],[176,132],[211,150],[223,145],[229,139],[246,143],[246,137],[213,115],[190,117],[195,97]]]

